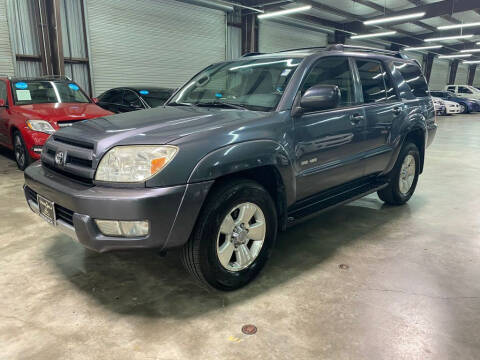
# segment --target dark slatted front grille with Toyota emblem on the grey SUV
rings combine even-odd
[[[92,184],[95,174],[94,145],[83,140],[53,135],[45,144],[42,164],[83,184]]]

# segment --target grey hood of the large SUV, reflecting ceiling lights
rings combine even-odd
[[[93,143],[97,153],[114,145],[168,144],[179,138],[223,127],[241,127],[270,113],[196,107],[160,107],[81,121],[55,137]]]

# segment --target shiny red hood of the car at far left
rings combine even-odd
[[[50,103],[15,106],[15,111],[29,120],[71,121],[112,115],[93,103]]]

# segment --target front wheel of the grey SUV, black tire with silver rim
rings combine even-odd
[[[235,180],[212,190],[182,262],[201,283],[236,290],[252,281],[270,257],[277,237],[277,212],[265,188]]]

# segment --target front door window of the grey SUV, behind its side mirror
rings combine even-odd
[[[337,85],[340,88],[339,106],[355,103],[353,77],[346,57],[332,56],[319,60],[305,78],[302,94],[315,85]]]

